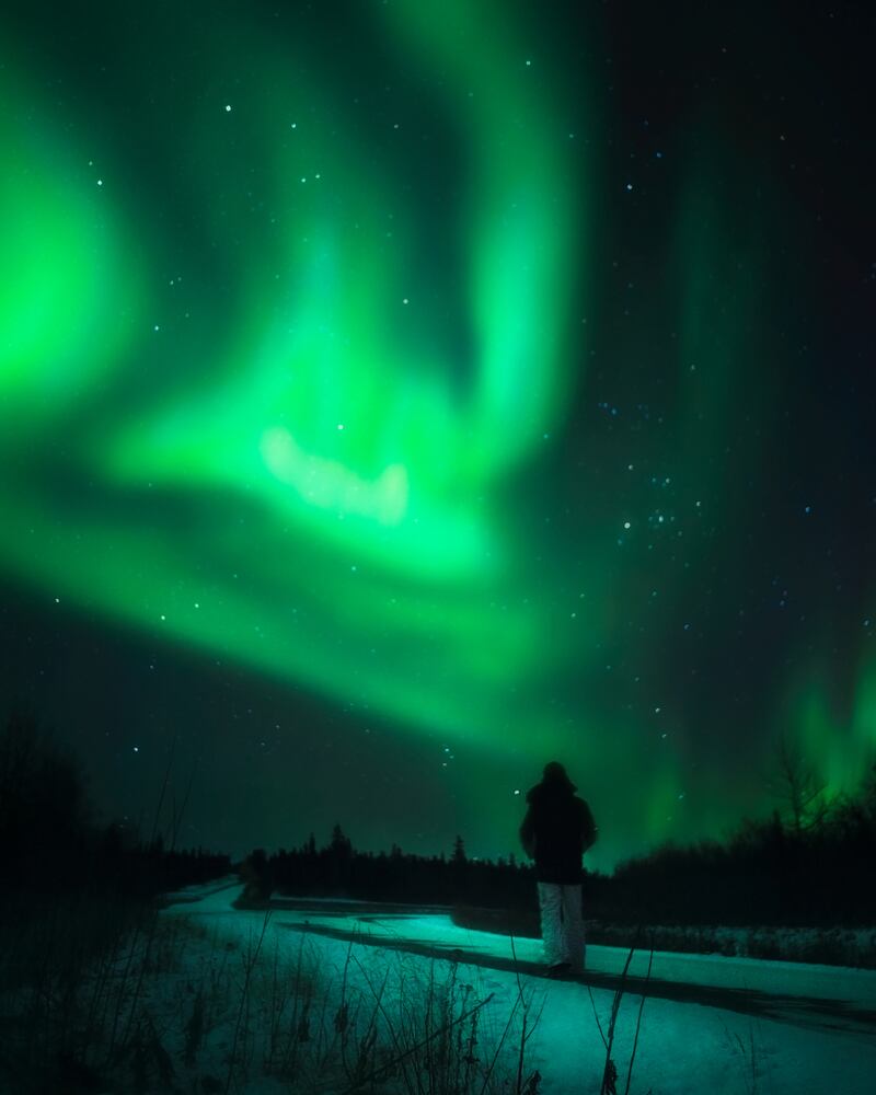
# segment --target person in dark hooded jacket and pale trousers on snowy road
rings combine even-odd
[[[590,807],[557,761],[544,766],[541,783],[527,793],[529,809],[520,842],[535,860],[541,936],[550,973],[584,969],[581,856],[596,841]]]

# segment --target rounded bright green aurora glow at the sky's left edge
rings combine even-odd
[[[137,318],[137,279],[84,152],[10,108],[38,97],[9,67],[0,97],[2,445],[57,417],[117,365]]]

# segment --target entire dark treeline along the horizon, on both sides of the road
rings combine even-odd
[[[789,750],[777,760],[781,809],[748,820],[723,842],[666,844],[620,864],[611,876],[586,872],[585,915],[603,923],[843,925],[876,922],[876,766],[854,795],[827,798]],[[136,903],[228,875],[228,855],[177,848],[185,802],[171,803],[162,831],[160,791],[148,833],[99,825],[72,753],[32,717],[0,731],[0,921],[33,908],[34,897],[112,892]],[[166,814],[168,810],[164,810]],[[300,848],[254,851],[239,865],[244,901],[283,895],[412,904],[537,911],[534,869],[514,856],[470,857],[462,837],[449,856],[393,845],[361,852],[336,826],[325,846],[311,833]],[[0,924],[0,929],[2,924]]]

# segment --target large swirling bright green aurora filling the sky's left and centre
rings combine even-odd
[[[139,254],[141,280],[165,295],[136,338],[130,325],[127,344],[97,338],[132,312],[113,266],[138,235],[130,210],[72,165],[84,149],[53,177],[8,142],[21,231],[4,246],[26,276],[2,300],[18,318],[3,392],[57,419],[65,385],[81,395],[88,376],[106,405],[87,428],[85,405],[67,407],[77,496],[65,519],[38,492],[7,491],[0,553],[169,638],[426,729],[486,741],[511,723],[540,752],[555,721],[510,716],[516,691],[543,687],[556,662],[550,609],[516,593],[534,576],[497,491],[563,413],[581,185],[552,138],[549,91],[521,84],[512,28],[488,34],[488,14],[403,4],[374,27],[466,164],[442,211],[463,241],[459,269],[420,253],[433,198],[410,193],[403,160],[378,162],[338,89],[302,76],[286,46],[253,35],[258,76],[233,101],[175,104],[180,162],[206,171],[203,220],[237,279],[223,338],[211,331],[227,319],[220,279],[169,266],[160,226]],[[204,85],[224,48],[205,41]],[[43,147],[65,147],[49,108],[33,127]],[[253,217],[251,164],[269,218]],[[464,361],[448,356],[448,325],[472,332]]]

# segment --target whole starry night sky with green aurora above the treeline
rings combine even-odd
[[[102,818],[173,750],[186,844],[496,856],[558,759],[604,869],[856,785],[875,31],[5,0],[0,695]]]

